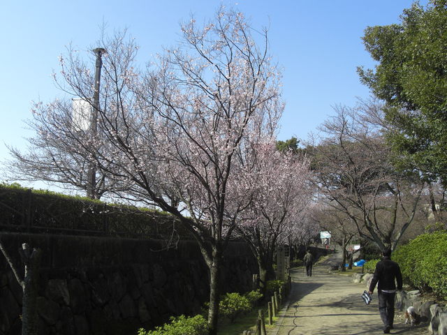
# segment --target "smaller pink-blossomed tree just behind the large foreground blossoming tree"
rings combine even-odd
[[[306,209],[312,200],[309,185],[309,161],[293,151],[278,151],[275,143],[257,148],[252,173],[256,193],[247,211],[242,213],[243,224],[237,232],[247,241],[258,261],[261,288],[274,278],[274,251],[281,244],[308,232]]]

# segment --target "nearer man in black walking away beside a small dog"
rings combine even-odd
[[[386,249],[382,253],[383,258],[376,265],[376,271],[369,285],[369,294],[372,295],[377,282],[379,293],[379,311],[383,321],[383,333],[388,334],[393,329],[394,304],[397,290],[402,290],[402,273],[396,262],[390,260],[391,249]],[[396,287],[397,281],[397,287]]]

